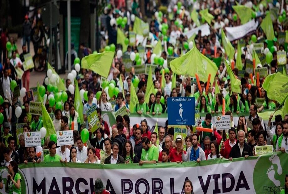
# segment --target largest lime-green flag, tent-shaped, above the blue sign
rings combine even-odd
[[[172,71],[177,75],[190,75],[195,77],[199,75],[199,79],[207,81],[211,74],[211,83],[214,82],[217,73],[217,66],[209,58],[205,57],[200,51],[193,47],[186,54],[170,61]]]

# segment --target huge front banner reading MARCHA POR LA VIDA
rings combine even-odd
[[[21,193],[92,194],[101,178],[111,194],[182,194],[191,180],[197,194],[279,194],[288,173],[288,152],[248,159],[213,159],[200,163],[81,164],[47,162],[21,164]],[[8,171],[1,169],[6,187]]]

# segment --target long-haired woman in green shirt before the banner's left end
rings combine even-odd
[[[6,192],[8,194],[18,193],[21,194],[21,176],[18,173],[18,164],[14,160],[8,166],[8,178],[6,184]]]

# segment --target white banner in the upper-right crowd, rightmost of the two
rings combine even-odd
[[[226,27],[225,28],[226,36],[229,39],[229,41],[234,41],[244,37],[248,33],[256,31],[257,26],[258,21],[255,22],[254,19],[252,19],[251,21],[243,25],[239,25],[236,27]]]

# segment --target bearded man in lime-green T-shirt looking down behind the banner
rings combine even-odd
[[[159,157],[159,150],[156,146],[150,143],[148,137],[143,137],[142,142],[142,153],[141,160],[139,165],[147,164],[156,164]]]

